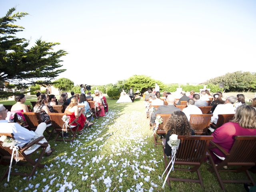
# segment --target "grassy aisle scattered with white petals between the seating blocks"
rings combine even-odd
[[[110,110],[106,117],[96,120],[93,128],[86,129],[78,139],[66,144],[72,152],[59,149],[50,164],[38,169],[34,178],[29,182],[24,178],[22,182],[27,182],[26,187],[14,189],[32,192],[158,191],[161,181],[155,171],[158,164],[163,163],[156,160],[153,145],[148,145],[152,131],[148,129],[145,114],[139,111],[120,113]],[[64,145],[64,142],[55,143]],[[34,183],[38,175],[43,179]]]

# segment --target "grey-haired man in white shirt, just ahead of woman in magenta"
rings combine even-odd
[[[213,122],[214,124],[217,124],[219,114],[234,114],[235,113],[235,108],[233,105],[234,102],[236,102],[236,97],[229,96],[227,97],[224,104],[218,104],[212,114],[211,122]]]

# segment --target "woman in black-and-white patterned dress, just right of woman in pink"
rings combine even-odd
[[[41,94],[37,98],[37,102],[34,106],[34,112],[40,113],[40,118],[42,119],[43,122],[50,120],[50,117],[48,115],[48,113],[50,113],[50,111],[49,111],[47,105],[45,105],[45,104],[46,104],[46,96]]]

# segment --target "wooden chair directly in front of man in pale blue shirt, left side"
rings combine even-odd
[[[22,112],[22,114],[25,117],[26,120],[26,124],[27,126],[24,126],[25,128],[27,128],[28,130],[33,130],[35,131],[37,126],[42,123],[42,119],[40,117],[40,113],[34,113],[34,112]],[[45,122],[46,124],[50,124],[50,120],[48,120],[47,122]],[[53,131],[49,131],[48,128],[46,128],[46,133],[49,135],[47,140],[50,139],[50,137],[52,136]]]

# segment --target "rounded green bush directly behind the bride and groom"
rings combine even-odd
[[[147,89],[152,89],[157,83],[160,87],[160,91],[166,90],[166,85],[158,80],[154,80],[144,75],[134,75],[124,82],[124,90],[128,91],[132,88],[134,91],[139,90],[141,93],[146,92]],[[119,83],[120,84],[120,83]],[[122,88],[122,86],[120,86]]]

